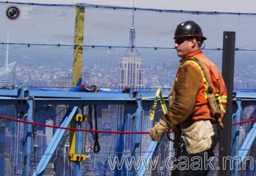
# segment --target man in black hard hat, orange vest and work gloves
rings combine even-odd
[[[149,133],[160,142],[169,128],[174,131],[179,162],[174,163],[171,175],[207,175],[209,168],[204,164],[214,156],[218,132],[223,128],[226,86],[216,65],[202,54],[206,39],[194,21],[180,23],[175,31],[174,46],[181,63],[169,95],[168,112]]]

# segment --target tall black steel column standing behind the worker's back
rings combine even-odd
[[[227,106],[226,114],[223,118],[223,130],[220,133],[220,148],[218,163],[220,166],[220,175],[230,175],[230,162],[223,162],[225,156],[231,156],[230,150],[232,141],[232,114],[233,114],[233,83],[234,83],[234,65],[235,65],[235,32],[223,33],[223,55],[222,55],[222,76],[227,87]],[[226,169],[223,165],[226,164]]]

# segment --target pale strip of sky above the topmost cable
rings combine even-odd
[[[133,0],[11,0],[9,2],[38,2],[46,4],[104,4],[132,7]],[[135,0],[135,7],[166,10],[249,12],[256,13],[255,0]]]

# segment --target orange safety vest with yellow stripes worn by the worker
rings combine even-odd
[[[204,65],[205,71],[202,71],[202,68],[199,66],[198,62],[193,61],[189,58],[198,59]],[[208,86],[211,86],[213,87],[213,93],[214,95],[216,95],[218,105],[220,106],[220,118],[218,118],[218,122],[220,124],[220,127],[223,128],[223,124],[221,121],[227,103],[227,90],[223,77],[221,76],[220,71],[218,71],[217,66],[213,62],[211,62],[204,54],[202,54],[201,50],[189,54],[188,56],[186,56],[186,58],[183,58],[181,62],[182,64],[180,65],[180,67],[183,67],[183,65],[186,64],[190,64],[192,65],[192,67],[195,67],[197,70],[199,70],[199,72],[202,74],[202,81],[200,84],[198,96],[196,98],[195,109],[193,110],[193,113],[190,115],[189,118],[192,118],[192,120],[205,119],[216,122],[216,118],[214,117],[215,114],[211,110],[209,106],[209,101],[207,99],[207,89]],[[207,74],[208,82],[206,81],[204,73]],[[178,74],[176,76],[176,80],[177,77],[179,77]]]

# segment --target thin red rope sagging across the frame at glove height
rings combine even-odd
[[[42,127],[49,127],[49,128],[60,128],[60,129],[64,129],[64,130],[71,130],[71,131],[85,131],[85,132],[92,132],[92,133],[113,133],[113,134],[148,134],[148,131],[143,131],[143,132],[135,132],[135,131],[102,131],[102,130],[85,130],[85,129],[77,129],[77,128],[69,128],[69,127],[60,127],[60,126],[54,126],[54,125],[46,125],[46,124],[40,124],[38,122],[28,122],[28,121],[24,121],[24,120],[18,120],[15,118],[10,118],[10,117],[4,117],[0,115],[0,118],[5,119],[5,120],[10,120],[10,121],[16,121],[16,122],[21,122],[24,124],[32,124],[32,125],[36,125],[36,126],[42,126]],[[252,121],[256,121],[255,119],[252,120],[245,120],[245,121],[241,121],[241,122],[236,122],[233,123],[232,125],[238,125],[238,124],[245,124],[248,122],[252,122]],[[173,131],[168,131],[166,133],[173,133]]]

